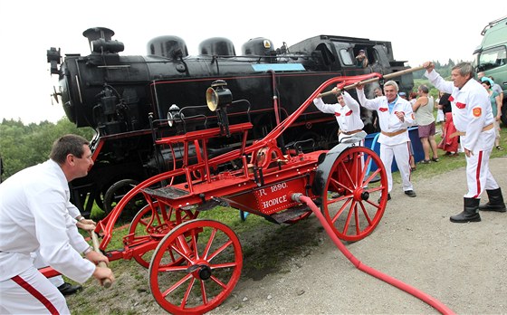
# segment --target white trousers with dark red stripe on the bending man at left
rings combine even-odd
[[[0,282],[0,314],[70,314],[62,293],[36,268]]]

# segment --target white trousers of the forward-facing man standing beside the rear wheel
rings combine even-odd
[[[393,146],[380,144],[380,159],[384,163],[384,167],[386,167],[387,192],[390,193],[393,189],[393,175],[391,173],[393,157],[397,161],[397,169],[401,175],[403,191],[414,190],[414,186],[410,182],[410,143],[407,141]]]

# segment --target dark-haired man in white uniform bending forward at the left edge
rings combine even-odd
[[[53,143],[49,160],[0,185],[0,313],[70,313],[62,293],[33,265],[37,251],[75,282],[114,281],[110,268],[96,266],[107,257],[91,250],[68,211],[68,182],[92,166],[88,141],[67,135]]]

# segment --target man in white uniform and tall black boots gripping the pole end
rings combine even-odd
[[[466,159],[466,183],[464,211],[451,216],[451,222],[467,223],[481,221],[479,203],[486,189],[490,201],[483,210],[505,212],[500,186],[490,171],[489,160],[493,150],[495,133],[493,110],[489,95],[481,83],[474,80],[474,67],[468,62],[456,64],[451,72],[453,81],[445,81],[434,71],[433,62],[425,62],[425,76],[435,88],[451,94],[454,126],[460,136]]]

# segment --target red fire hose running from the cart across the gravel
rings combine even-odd
[[[401,282],[401,281],[387,275],[386,273],[379,272],[378,270],[375,270],[375,269],[369,267],[368,265],[360,262],[356,257],[354,257],[354,255],[352,253],[350,253],[350,251],[347,249],[347,247],[345,247],[345,245],[343,243],[341,243],[338,236],[336,236],[336,234],[334,234],[334,232],[331,230],[330,224],[328,224],[328,222],[324,218],[324,215],[322,215],[320,213],[320,209],[317,207],[317,205],[315,205],[313,203],[313,201],[311,200],[310,197],[304,196],[302,194],[293,194],[292,200],[302,202],[305,205],[310,206],[311,211],[315,215],[317,215],[317,217],[319,218],[320,224],[322,224],[322,226],[326,230],[326,233],[328,235],[330,235],[330,239],[333,241],[333,243],[336,244],[336,246],[338,247],[340,252],[343,253],[345,255],[345,257],[347,257],[349,259],[349,261],[352,262],[356,266],[356,268],[358,268],[361,272],[366,272],[369,275],[374,276],[383,282],[387,282],[387,283],[397,287],[400,290],[403,290],[409,294],[412,294],[417,299],[426,302],[426,304],[432,306],[435,310],[440,311],[442,314],[454,314],[453,310],[449,309],[441,301],[436,300],[434,297],[426,294],[425,292],[419,291],[416,288],[408,285],[405,282]]]

